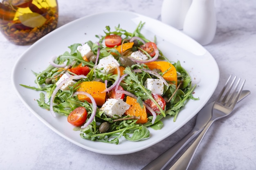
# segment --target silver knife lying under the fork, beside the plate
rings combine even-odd
[[[240,102],[250,93],[251,92],[248,90],[243,90],[238,98],[238,102]],[[163,170],[168,163],[170,163],[171,160],[173,160],[173,158],[204,129],[207,122],[211,119],[211,109],[213,104],[214,102],[208,104],[198,112],[195,127],[184,138],[182,138],[174,146],[166,150],[162,155],[157,157],[141,170]]]

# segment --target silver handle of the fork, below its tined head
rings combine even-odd
[[[202,139],[204,138],[204,135],[215,120],[215,118],[210,119],[205,128],[200,132],[200,135],[198,135],[195,141],[193,141],[189,148],[187,148],[186,151],[180,156],[180,158],[175,161],[169,170],[187,170],[189,168],[189,165]]]

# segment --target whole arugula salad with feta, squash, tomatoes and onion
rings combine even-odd
[[[191,78],[179,61],[171,62],[141,34],[106,26],[98,42],[69,46],[50,65],[34,73],[42,91],[38,105],[66,116],[83,139],[119,144],[122,137],[139,141],[148,128],[161,129],[161,119],[173,116],[193,97]],[[167,118],[168,119],[168,118]]]

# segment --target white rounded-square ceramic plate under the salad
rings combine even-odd
[[[140,21],[146,23],[141,33],[147,39],[153,41],[155,36],[157,47],[169,60],[173,62],[180,60],[197,84],[194,97],[200,98],[198,101],[187,102],[175,122],[173,117],[166,117],[161,130],[150,129],[150,138],[137,142],[120,140],[118,145],[82,139],[80,132],[74,131],[73,126],[67,122],[67,117],[59,115],[54,118],[49,111],[38,106],[35,99],[39,98],[40,92],[20,86],[20,84],[36,86],[32,71],[37,73],[43,71],[49,65],[52,56],[69,51],[67,47],[71,44],[84,43],[88,40],[97,42],[99,39],[95,35],[105,35],[103,30],[106,26],[110,26],[111,31],[115,31],[115,26],[120,24],[122,29],[133,32]],[[215,91],[219,81],[219,69],[213,56],[181,31],[137,13],[118,11],[80,18],[44,36],[20,56],[13,69],[12,80],[22,102],[58,135],[93,152],[121,155],[148,148],[186,124],[201,110]]]

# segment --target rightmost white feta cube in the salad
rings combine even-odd
[[[145,87],[153,94],[163,95],[164,83],[160,79],[146,79]]]

